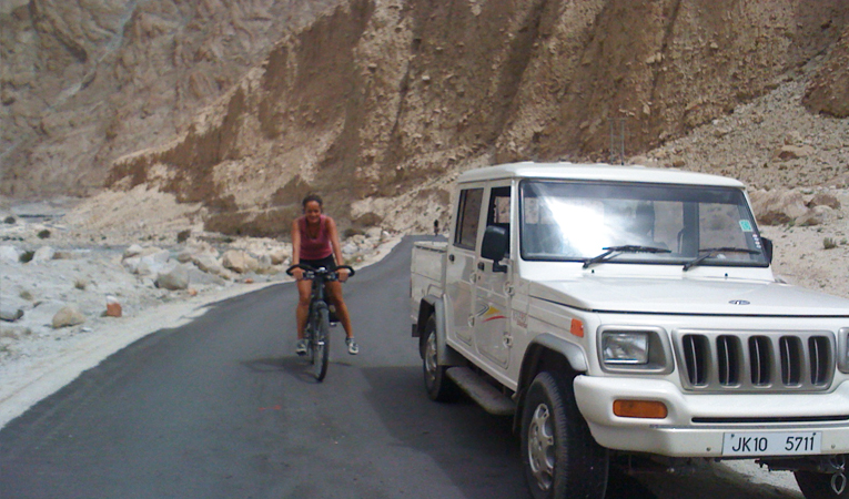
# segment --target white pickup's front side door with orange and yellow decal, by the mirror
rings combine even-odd
[[[511,234],[511,186],[495,184],[486,201],[486,225],[481,227],[481,233],[489,225],[497,225],[507,230]],[[501,262],[502,265],[511,262],[509,252]],[[479,248],[476,253],[475,268],[477,271],[477,286],[475,288],[475,315],[474,335],[477,350],[502,368],[509,364],[509,350],[513,346],[511,329],[511,302],[509,289],[513,265],[507,265],[506,272],[493,271],[493,261],[481,256]]]

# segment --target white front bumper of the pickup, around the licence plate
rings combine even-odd
[[[849,381],[817,394],[684,394],[666,379],[575,378],[575,398],[596,441],[670,457],[724,456],[732,431],[820,431],[820,455],[849,454]],[[614,400],[657,400],[664,419],[619,417]],[[755,456],[757,457],[757,456]]]

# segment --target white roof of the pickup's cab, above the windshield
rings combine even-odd
[[[715,185],[742,189],[735,180],[707,173],[685,172],[673,169],[650,169],[641,165],[616,166],[604,163],[509,163],[464,172],[457,182],[489,181],[501,179],[550,179],[578,181],[644,182],[651,184]]]

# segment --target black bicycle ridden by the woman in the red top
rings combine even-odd
[[[306,339],[306,356],[313,365],[313,376],[321,381],[327,375],[330,360],[331,309],[325,299],[324,283],[337,281],[336,271],[340,268],[346,268],[350,272],[350,277],[355,272],[350,265],[340,265],[335,271],[331,271],[324,267],[313,268],[306,264],[296,264],[289,267],[286,274],[292,275],[292,271],[295,268],[304,271],[304,278],[313,282],[304,339]]]

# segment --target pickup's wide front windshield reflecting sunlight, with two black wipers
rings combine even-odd
[[[739,189],[523,181],[520,193],[524,259],[768,265]],[[610,252],[617,246],[654,249]]]

